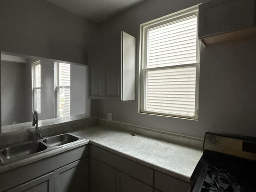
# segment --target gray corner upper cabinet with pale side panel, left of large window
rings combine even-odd
[[[135,100],[135,44],[121,32],[88,51],[89,98]]]

